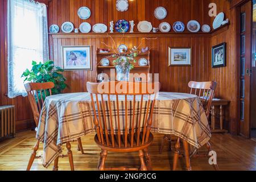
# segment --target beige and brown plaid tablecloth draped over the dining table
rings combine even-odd
[[[119,98],[119,102],[123,100],[124,98]],[[133,97],[128,100],[132,101]],[[114,105],[115,97],[112,102]],[[120,103],[119,106],[122,107],[123,104]],[[36,138],[44,143],[43,166],[48,167],[61,154],[61,144],[92,132],[95,130],[89,93],[47,97],[36,134]],[[207,143],[211,137],[201,101],[197,96],[185,93],[159,92],[152,132],[173,134],[187,140],[195,148],[192,152]]]

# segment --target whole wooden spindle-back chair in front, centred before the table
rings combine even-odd
[[[118,92],[118,89],[115,89],[118,84],[122,85],[122,89],[125,88],[126,92]],[[143,90],[144,88],[147,88],[147,86],[154,88],[154,90],[151,90],[152,92]],[[100,92],[98,88],[101,87],[106,88],[106,90]],[[101,148],[98,170],[125,171],[141,169],[142,171],[145,171],[152,169],[150,155],[148,154],[148,147],[154,139],[153,135],[151,134],[152,114],[157,95],[156,93],[159,92],[159,87],[160,85],[158,82],[155,84],[139,82],[87,83],[87,89],[92,98],[92,107],[95,118],[94,124],[97,131],[94,140]],[[135,92],[136,89],[138,89],[138,92]],[[116,102],[112,102],[110,97],[114,97]],[[120,97],[123,97],[124,101],[119,102]],[[129,101],[128,97],[133,98],[133,100]],[[137,103],[138,101],[140,102]],[[119,107],[121,106],[120,103],[122,103],[124,108]],[[131,107],[128,109],[129,105]],[[135,105],[138,106],[136,110]],[[116,109],[113,109],[112,106]],[[128,116],[129,113],[130,119]],[[114,127],[114,125],[116,125],[117,128]],[[114,132],[114,130],[117,132]],[[139,158],[141,160],[141,167],[105,168],[105,161],[108,151],[138,151]],[[146,156],[146,164],[143,159],[143,151]]]

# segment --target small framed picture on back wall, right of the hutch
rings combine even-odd
[[[191,48],[169,47],[169,66],[191,65]]]

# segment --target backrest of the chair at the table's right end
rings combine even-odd
[[[191,81],[188,83],[189,88],[191,88],[190,93],[195,94],[201,98],[202,104],[205,109],[205,114],[207,118],[210,115],[210,106],[212,105],[212,100],[214,97],[214,91],[217,86],[217,82],[208,81],[208,82],[196,82]]]

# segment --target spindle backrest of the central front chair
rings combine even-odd
[[[119,86],[122,85],[121,88],[124,89],[125,91],[119,92],[117,88],[120,88],[120,87],[118,87],[118,85]],[[103,92],[100,92],[98,88],[105,88],[105,89]],[[145,88],[153,88],[153,89],[145,89]],[[156,82],[156,83],[87,82],[87,89],[88,89],[88,92],[90,93],[91,100],[92,100],[92,107],[93,107],[94,118],[95,118],[94,124],[96,126],[97,137],[102,145],[112,146],[113,148],[121,148],[121,140],[122,140],[124,143],[122,147],[127,148],[127,147],[141,146],[142,144],[148,142],[148,137],[150,135],[151,125],[152,125],[152,114],[155,106],[155,99],[160,89],[159,82]],[[115,102],[111,101],[110,96],[114,97],[116,101]],[[127,100],[127,96],[133,97],[133,101]],[[124,97],[123,98],[124,101],[122,101],[122,105],[125,106],[124,108],[125,115],[122,114],[122,111],[119,111],[119,108],[120,108],[119,106],[121,106],[121,102],[119,102],[119,97]],[[137,101],[136,101],[136,98],[137,98]],[[101,102],[101,101],[104,101],[104,102]],[[138,101],[139,101],[139,104],[138,104]],[[143,105],[143,102],[144,102],[144,105]],[[136,104],[138,106],[137,110],[135,110]],[[114,105],[113,107],[116,108],[115,110],[112,110],[113,108],[112,105]],[[128,110],[128,105],[131,106],[129,110]],[[142,115],[143,112],[145,117],[143,117]],[[130,120],[128,119],[129,113],[131,116]],[[135,114],[138,114],[136,117],[138,119],[135,118]],[[123,129],[125,130],[123,132],[125,135],[124,139],[121,138],[121,128],[120,128],[120,122],[121,122],[120,118],[122,118],[123,116],[124,116],[124,121],[122,122],[123,122]],[[117,118],[116,125],[118,129],[116,128],[114,129],[113,127],[114,117]],[[108,124],[107,124],[108,122],[107,120],[109,121]],[[129,126],[128,126],[128,123],[129,123]],[[114,133],[114,130],[117,130],[117,132]],[[115,136],[117,136],[117,139],[114,138]],[[139,140],[140,137],[141,137],[141,142]]]

